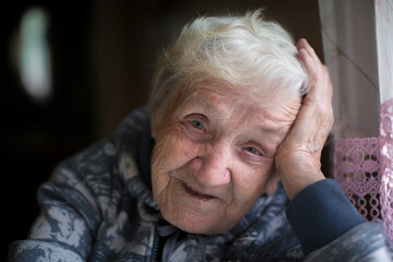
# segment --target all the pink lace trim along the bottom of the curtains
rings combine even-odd
[[[368,221],[382,218],[393,241],[393,99],[381,105],[380,138],[334,141],[334,179]]]

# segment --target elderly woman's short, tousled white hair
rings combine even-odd
[[[297,53],[291,36],[278,23],[265,21],[260,10],[199,17],[158,58],[151,112],[159,121],[178,99],[207,83],[224,84],[255,103],[261,103],[262,91],[300,97],[307,93],[308,76]]]

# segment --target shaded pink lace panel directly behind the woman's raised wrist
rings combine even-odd
[[[334,179],[368,221],[381,218],[379,159],[377,138],[334,141]]]

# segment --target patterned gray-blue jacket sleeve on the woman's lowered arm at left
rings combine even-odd
[[[86,261],[108,202],[99,194],[109,191],[99,188],[107,168],[94,163],[102,157],[84,152],[55,170],[38,189],[41,214],[28,239],[11,243],[9,261]]]

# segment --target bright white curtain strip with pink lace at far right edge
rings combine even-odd
[[[376,0],[374,9],[381,102],[381,210],[393,240],[393,0]]]

